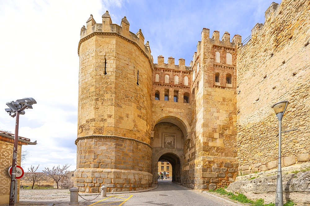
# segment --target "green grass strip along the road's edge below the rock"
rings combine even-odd
[[[221,195],[227,195],[228,198],[231,200],[237,200],[241,203],[250,203],[252,206],[275,206],[274,203],[265,204],[264,199],[258,199],[258,200],[253,201],[253,200],[248,199],[246,197],[246,195],[244,195],[242,193],[236,193],[237,195],[235,195],[232,192],[227,192],[224,188],[218,188],[216,190],[209,190],[209,192],[216,192],[216,193],[219,193]],[[296,203],[289,200],[283,206],[294,206],[294,205],[296,205]]]

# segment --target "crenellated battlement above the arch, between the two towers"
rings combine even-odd
[[[179,59],[179,65],[175,64],[175,58],[168,57],[168,63],[164,63],[164,57],[159,55],[157,57],[157,64],[153,64],[156,68],[170,69],[170,70],[178,70],[178,71],[189,71],[191,70],[190,66],[185,66],[185,59]]]

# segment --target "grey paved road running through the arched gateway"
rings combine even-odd
[[[113,201],[115,201],[114,204],[111,204]],[[171,180],[159,180],[157,189],[152,191],[110,197],[92,206],[97,205],[231,206],[203,193],[172,183]]]

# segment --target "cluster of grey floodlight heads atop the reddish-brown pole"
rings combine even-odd
[[[14,101],[7,102],[7,106],[10,108],[5,109],[5,111],[9,113],[10,116],[15,117],[16,112],[20,111],[24,106],[27,106],[26,107],[27,109],[28,108],[32,109],[32,105],[36,103],[37,103],[36,100],[34,100],[31,97],[17,99],[15,102]],[[23,115],[23,114],[25,114],[25,111],[24,110],[20,111],[20,115]]]

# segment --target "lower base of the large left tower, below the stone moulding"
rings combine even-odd
[[[79,140],[79,165],[76,187],[81,192],[99,192],[104,184],[108,192],[142,190],[152,186],[151,147],[124,138],[88,138]]]

